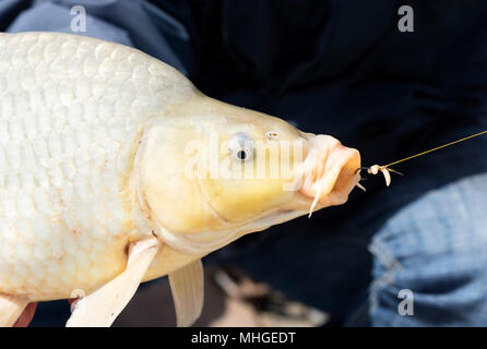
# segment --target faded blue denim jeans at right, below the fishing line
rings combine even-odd
[[[375,234],[371,324],[487,325],[487,173],[433,190],[390,217]],[[414,315],[401,316],[400,290]]]

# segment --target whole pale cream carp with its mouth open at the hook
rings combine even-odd
[[[289,156],[285,144],[299,147]],[[280,167],[298,154],[304,161],[273,176],[270,148]],[[259,158],[266,169],[248,177]],[[191,177],[188,164],[202,170]],[[103,308],[107,294],[133,294],[140,281],[169,275],[189,324],[202,293],[185,282],[201,289],[202,256],[305,215],[311,203],[343,204],[359,166],[358,152],[337,140],[209,98],[136,49],[0,34],[4,306],[94,294],[86,304]],[[0,317],[2,306],[0,297]],[[73,324],[90,324],[79,317]]]

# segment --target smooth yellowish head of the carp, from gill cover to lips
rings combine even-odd
[[[359,153],[336,139],[202,95],[151,120],[139,153],[142,206],[193,253],[343,204],[360,178]]]

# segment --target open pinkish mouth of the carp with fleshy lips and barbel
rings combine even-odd
[[[360,180],[355,173],[360,167],[360,153],[329,135],[313,136],[309,142],[299,192],[312,201],[311,215],[314,208],[342,205],[348,200]]]

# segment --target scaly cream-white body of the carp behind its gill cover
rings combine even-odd
[[[126,46],[0,34],[0,293],[87,294],[124,269],[151,233],[131,186],[144,122],[197,93]],[[164,246],[145,279],[195,258]]]

